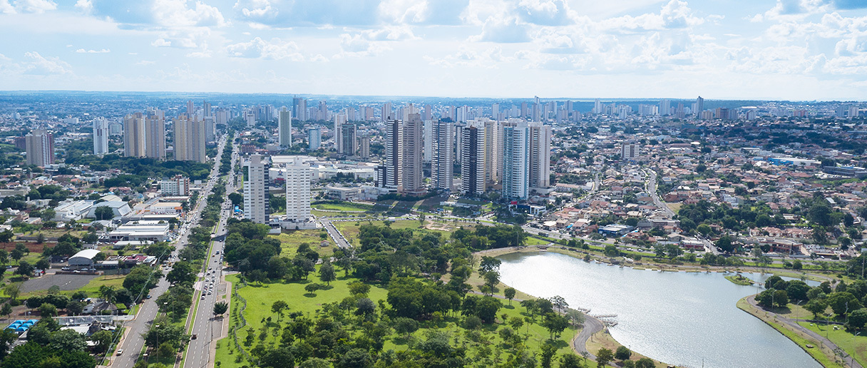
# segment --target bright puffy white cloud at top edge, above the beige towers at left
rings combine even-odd
[[[157,23],[166,27],[222,27],[227,24],[216,7],[201,1],[196,1],[191,9],[187,8],[187,0],[155,0],[153,16]]]

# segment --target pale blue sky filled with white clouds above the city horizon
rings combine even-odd
[[[867,100],[867,0],[0,0],[0,90]]]

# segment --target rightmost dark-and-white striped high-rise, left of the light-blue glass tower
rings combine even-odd
[[[486,188],[485,126],[471,122],[460,128],[460,192],[484,194]]]

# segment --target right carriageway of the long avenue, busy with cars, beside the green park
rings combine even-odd
[[[237,151],[237,145],[232,146],[233,150]],[[235,168],[235,157],[232,155],[231,168]],[[231,176],[230,176],[231,178]],[[225,283],[223,281],[223,254],[225,227],[226,221],[231,217],[231,201],[228,200],[228,194],[234,193],[234,181],[231,179],[225,186],[226,200],[220,210],[220,220],[217,224],[215,240],[212,242],[211,254],[208,256],[206,266],[202,267],[202,273],[199,273],[201,278],[194,286],[200,293],[196,294],[199,298],[199,306],[196,307],[195,319],[192,321],[192,327],[187,333],[195,335],[195,339],[191,339],[189,345],[186,346],[186,360],[181,368],[202,368],[207,365],[213,365],[211,344],[218,340],[222,335],[223,323],[222,319],[215,319],[213,315],[214,304],[217,303],[220,295],[225,293]],[[204,298],[203,298],[204,297]],[[226,298],[228,302],[230,299]],[[195,302],[195,301],[194,301]]]

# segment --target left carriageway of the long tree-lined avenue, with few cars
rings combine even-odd
[[[214,184],[217,181],[219,175],[219,158],[223,154],[223,147],[225,146],[225,136],[218,143],[218,152],[216,159],[214,160],[214,168],[211,171],[210,179],[208,180],[205,188],[203,189],[204,194],[199,194],[199,201],[196,203],[196,207],[193,208],[192,212],[190,212],[187,216],[188,223],[191,224],[189,227],[184,227],[180,236],[178,237],[178,242],[175,243],[175,252],[173,253],[173,257],[177,257],[179,251],[186,246],[187,235],[189,234],[189,230],[192,228],[192,225],[199,223],[199,217],[202,212],[202,208],[205,207],[207,202],[208,194],[211,194],[211,190]],[[144,303],[139,310],[139,313],[136,314],[135,319],[132,321],[126,322],[123,326],[129,327],[129,332],[127,332],[126,338],[124,338],[121,345],[118,347],[123,349],[124,354],[121,356],[114,358],[114,363],[112,365],[118,366],[121,368],[132,368],[135,365],[135,362],[139,360],[139,358],[144,358],[140,356],[140,352],[142,351],[142,347],[145,345],[145,339],[141,336],[142,333],[147,332],[151,324],[153,323],[153,319],[156,318],[157,312],[159,312],[159,308],[156,306],[155,300],[162,295],[163,292],[168,290],[169,282],[166,281],[166,278],[160,278],[157,282],[157,286],[151,289],[150,295],[151,299],[145,299]]]

